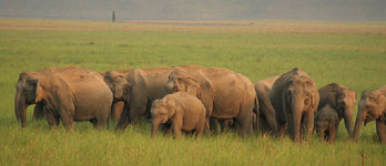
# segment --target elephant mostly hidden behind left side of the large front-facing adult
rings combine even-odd
[[[255,82],[256,95],[258,98],[258,129],[262,133],[277,133],[277,125],[275,120],[275,110],[270,100],[270,92],[274,82],[278,76],[273,76],[266,80]]]

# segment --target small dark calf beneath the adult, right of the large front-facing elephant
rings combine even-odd
[[[339,118],[333,107],[326,105],[318,111],[315,120],[315,128],[322,142],[328,141],[328,143],[334,143],[338,126]]]

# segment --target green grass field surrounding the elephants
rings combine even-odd
[[[126,21],[80,22],[0,19],[0,165],[385,165],[386,146],[374,122],[353,143],[341,123],[336,143],[293,144],[234,133],[195,142],[150,138],[150,124],[123,133],[50,131],[31,120],[21,128],[13,110],[20,72],[52,66],[110,70],[196,64],[222,66],[252,81],[295,66],[321,87],[336,82],[364,90],[386,84],[385,22]]]

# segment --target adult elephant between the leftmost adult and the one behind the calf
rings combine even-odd
[[[177,70],[197,70],[203,69],[196,65],[185,65],[176,68],[151,68],[134,69],[130,72],[114,72],[105,75],[104,80],[113,93],[126,93],[124,108],[118,122],[116,129],[124,129],[132,121],[143,117],[150,118],[150,108],[154,100],[166,95],[164,85],[171,72]]]

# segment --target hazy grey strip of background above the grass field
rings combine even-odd
[[[1,18],[386,21],[385,0],[0,0]]]

